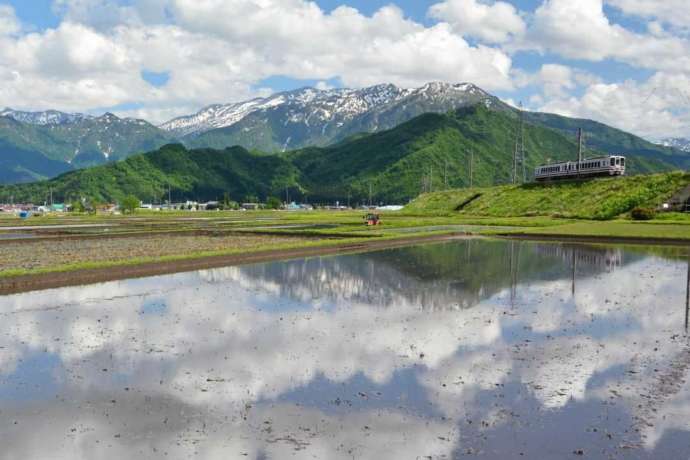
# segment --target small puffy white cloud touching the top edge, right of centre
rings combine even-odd
[[[488,43],[503,43],[525,32],[525,23],[517,9],[501,1],[446,0],[432,5],[429,16],[448,22],[460,35]]]

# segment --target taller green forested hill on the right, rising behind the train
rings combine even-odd
[[[468,186],[472,155],[474,185],[510,182],[515,126],[510,112],[478,104],[445,115],[422,115],[389,131],[298,150],[287,157],[314,196],[342,201],[349,192],[364,199],[371,185],[375,199],[406,202],[423,190],[429,175],[432,190]],[[574,139],[557,131],[526,124],[524,136],[528,179],[539,164],[577,158]],[[628,164],[633,174],[673,169],[639,155],[630,155]]]

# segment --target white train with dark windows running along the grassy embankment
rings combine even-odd
[[[588,158],[580,162],[566,161],[565,163],[542,165],[534,170],[534,179],[538,182],[624,175],[625,157],[620,155]]]

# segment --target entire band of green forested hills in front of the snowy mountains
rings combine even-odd
[[[445,115],[426,114],[389,131],[353,136],[337,145],[266,155],[241,147],[188,150],[182,145],[85,170],[50,181],[0,188],[0,201],[40,202],[53,189],[57,199],[92,196],[117,200],[127,193],[149,201],[173,198],[216,199],[227,192],[241,200],[283,196],[310,202],[404,203],[424,188],[439,190],[469,184],[474,157],[475,186],[510,181],[515,116],[483,104]],[[553,129],[527,123],[524,128],[527,173],[546,161],[573,159],[573,139]],[[597,152],[590,152],[596,154]],[[644,155],[628,155],[631,173],[673,169],[673,165]],[[431,180],[429,180],[431,177]],[[423,186],[423,184],[425,184]]]

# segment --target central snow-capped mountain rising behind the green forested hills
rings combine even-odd
[[[427,112],[484,101],[502,103],[469,84],[392,84],[363,89],[302,88],[246,102],[212,105],[160,126],[185,143],[223,148],[239,144],[267,151],[326,145],[360,132],[390,129]]]

